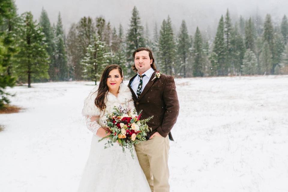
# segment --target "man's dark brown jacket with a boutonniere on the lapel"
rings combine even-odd
[[[131,88],[131,83],[137,74],[130,79],[128,87],[132,92],[137,112],[142,110],[141,119],[154,116],[147,122],[147,125],[152,128],[150,135],[158,131],[162,137],[169,134],[169,139],[174,141],[170,131],[179,115],[176,85],[173,77],[169,75],[161,74],[160,78],[153,79],[155,73],[156,71],[152,73],[139,98]]]

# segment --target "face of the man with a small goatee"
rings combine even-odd
[[[150,59],[148,51],[143,50],[135,53],[134,63],[140,75],[150,69],[152,61],[153,60]]]

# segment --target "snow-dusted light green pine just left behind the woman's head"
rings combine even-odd
[[[100,41],[99,36],[94,35],[91,45],[87,47],[87,53],[82,59],[84,79],[91,80],[97,85],[103,69],[109,64],[110,52],[107,51],[106,43]]]

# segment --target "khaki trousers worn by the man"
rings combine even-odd
[[[154,136],[148,141],[135,145],[139,164],[143,169],[152,192],[167,192],[169,185],[168,136]]]

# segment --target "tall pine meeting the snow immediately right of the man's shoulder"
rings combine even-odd
[[[187,73],[187,59],[190,54],[189,48],[191,47],[188,30],[185,20],[182,20],[180,26],[180,33],[178,35],[177,55],[179,57],[179,72],[183,71],[183,77]]]

